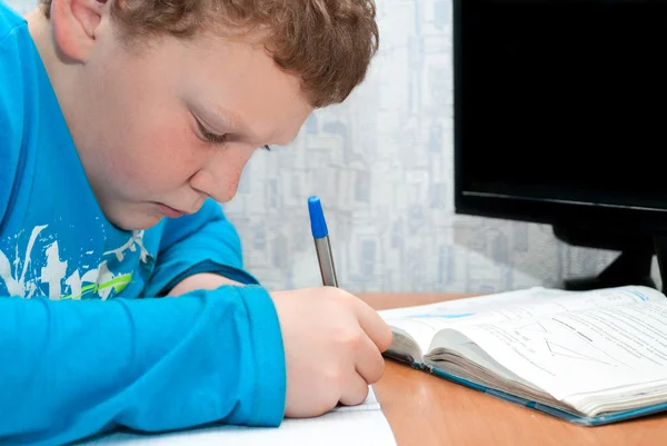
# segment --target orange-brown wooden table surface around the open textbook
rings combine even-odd
[[[376,309],[470,295],[362,294]],[[375,386],[398,446],[666,446],[667,415],[584,427],[388,361]]]

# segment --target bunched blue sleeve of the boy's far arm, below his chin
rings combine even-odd
[[[198,272],[216,272],[241,284],[258,284],[243,269],[241,242],[235,227],[212,199],[197,214],[166,222],[147,290],[165,295]]]

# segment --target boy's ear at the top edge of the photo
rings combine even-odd
[[[107,0],[52,0],[53,39],[62,56],[78,62],[88,59],[106,3]]]

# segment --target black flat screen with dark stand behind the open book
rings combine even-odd
[[[452,0],[455,209],[620,251],[567,289],[667,262],[667,1]]]

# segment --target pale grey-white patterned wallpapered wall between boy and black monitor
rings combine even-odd
[[[307,198],[325,206],[339,281],[352,291],[560,286],[615,252],[550,227],[454,214],[451,4],[378,2],[380,52],[347,102],[318,110],[290,147],[258,152],[226,206],[271,288],[320,283]]]

